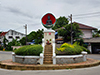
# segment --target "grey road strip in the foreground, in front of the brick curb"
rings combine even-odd
[[[100,75],[100,66],[71,70],[15,71],[0,69],[0,75]]]

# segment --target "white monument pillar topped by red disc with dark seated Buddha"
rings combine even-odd
[[[42,39],[42,46],[43,46],[43,54],[41,54],[41,58],[44,57],[44,50],[45,50],[45,45],[46,44],[51,44],[53,48],[53,64],[56,64],[56,54],[55,54],[55,31],[52,30],[51,28],[55,25],[56,23],[56,18],[54,15],[51,13],[47,13],[44,15],[41,19],[42,24],[44,27],[47,28],[47,30],[44,31],[44,38]],[[43,64],[43,59],[41,59],[41,64]]]

